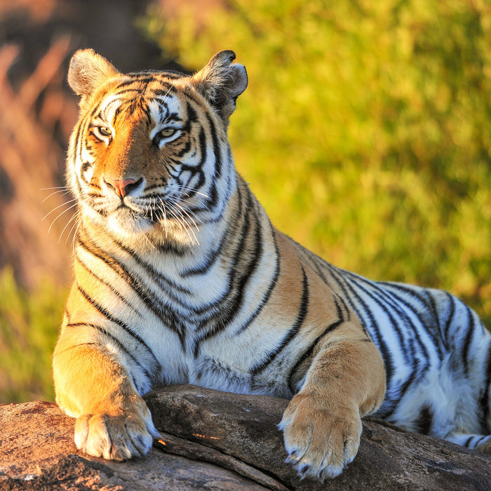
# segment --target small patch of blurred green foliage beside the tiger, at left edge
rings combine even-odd
[[[67,292],[42,282],[27,294],[0,274],[0,403],[54,401],[51,356]]]

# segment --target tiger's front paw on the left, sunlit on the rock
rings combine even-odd
[[[147,418],[140,415],[82,415],[75,424],[77,448],[108,460],[143,457],[152,447],[153,437],[158,436],[149,411]]]

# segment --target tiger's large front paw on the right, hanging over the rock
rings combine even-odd
[[[356,410],[333,413],[321,407],[315,396],[297,394],[278,424],[283,430],[286,462],[300,478],[324,482],[339,476],[353,461],[360,446],[361,418]]]

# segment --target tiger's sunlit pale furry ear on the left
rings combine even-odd
[[[81,49],[70,60],[68,83],[76,95],[83,97],[117,74],[118,70],[94,50]]]

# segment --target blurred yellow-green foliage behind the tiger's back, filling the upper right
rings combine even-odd
[[[484,0],[232,0],[147,34],[199,69],[233,49],[239,171],[341,267],[445,288],[491,325],[491,10]]]

